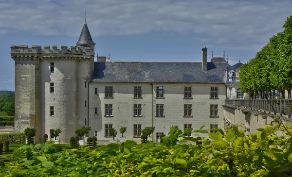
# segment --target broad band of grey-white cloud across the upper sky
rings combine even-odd
[[[282,31],[288,0],[0,0],[0,34],[12,28],[32,34],[78,37],[84,10],[91,35],[176,32],[208,45],[259,50]]]

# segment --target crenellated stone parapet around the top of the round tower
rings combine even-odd
[[[79,61],[91,59],[94,56],[93,50],[89,47],[71,46],[11,46],[11,57],[14,60],[65,60],[65,61]]]

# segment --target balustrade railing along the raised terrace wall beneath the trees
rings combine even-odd
[[[292,115],[292,99],[226,99],[224,105]]]

